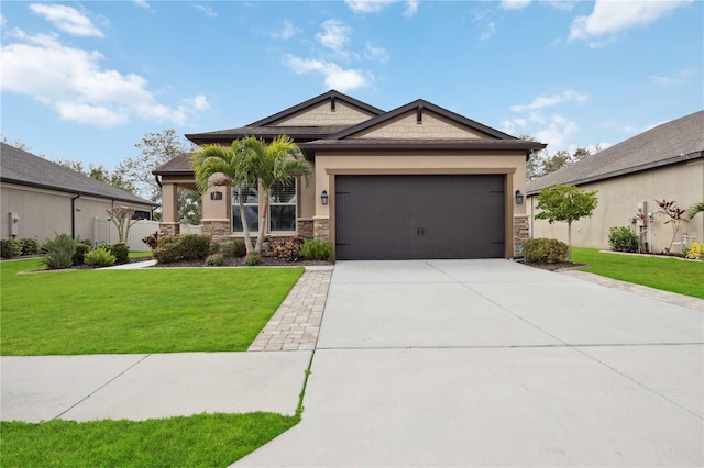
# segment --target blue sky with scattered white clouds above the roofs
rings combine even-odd
[[[702,1],[0,3],[1,133],[114,167],[148,132],[249,124],[337,89],[422,98],[548,149],[704,108]]]

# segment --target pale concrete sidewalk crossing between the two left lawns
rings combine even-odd
[[[312,352],[2,356],[2,421],[295,414]]]

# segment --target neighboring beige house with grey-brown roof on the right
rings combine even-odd
[[[656,200],[674,200],[682,209],[704,201],[704,111],[663,123],[585,159],[532,180],[527,186],[532,237],[566,241],[566,223],[535,220],[536,194],[552,185],[570,183],[598,190],[590,219],[572,226],[576,246],[608,248],[608,229],[629,226],[641,234],[649,252],[662,253],[672,239],[672,225],[659,215]],[[644,213],[645,222],[637,214]],[[686,216],[685,216],[686,218]],[[673,252],[692,241],[704,242],[704,215],[683,222]]]

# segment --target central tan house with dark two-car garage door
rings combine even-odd
[[[424,100],[384,112],[338,91],[243,127],[186,137],[230,145],[248,135],[290,136],[315,171],[310,187],[299,179],[273,191],[267,233],[329,239],[337,259],[513,257],[528,236],[516,193],[525,192],[529,153],[546,146]],[[162,182],[162,231],[175,233],[177,188],[195,187],[188,155],[154,174]],[[232,190],[208,192],[204,232],[218,242],[241,235]],[[263,207],[256,188],[245,203],[256,223]]]

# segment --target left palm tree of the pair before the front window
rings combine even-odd
[[[252,247],[252,237],[244,214],[244,201],[242,191],[244,188],[256,183],[257,177],[253,170],[250,152],[245,151],[240,141],[232,142],[230,147],[221,145],[205,145],[198,149],[190,158],[196,177],[198,191],[205,193],[212,185],[226,185],[233,187],[238,192],[240,201],[240,218],[242,219],[242,231],[244,233],[244,245],[249,254]],[[210,180],[216,174],[222,176],[217,180]]]

